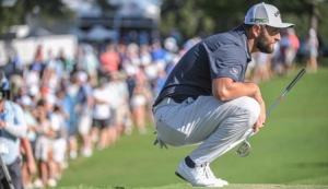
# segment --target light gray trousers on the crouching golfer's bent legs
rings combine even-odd
[[[211,163],[241,143],[260,114],[259,103],[247,96],[220,102],[213,96],[176,103],[166,97],[153,108],[157,138],[172,146],[200,144],[190,158]]]

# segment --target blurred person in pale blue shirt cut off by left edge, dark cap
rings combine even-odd
[[[27,125],[20,105],[10,101],[10,84],[3,71],[0,72],[0,155],[7,165],[1,167],[0,188],[23,189],[20,139],[25,138]],[[2,165],[1,165],[2,166]],[[5,168],[8,175],[5,174]]]

